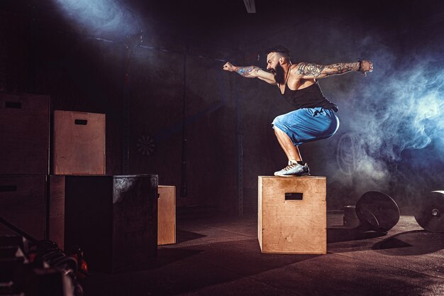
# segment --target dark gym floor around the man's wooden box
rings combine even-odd
[[[328,213],[326,255],[262,254],[257,219],[179,219],[177,243],[160,246],[152,268],[94,273],[100,295],[444,295],[444,234],[401,216],[388,234],[341,229]]]

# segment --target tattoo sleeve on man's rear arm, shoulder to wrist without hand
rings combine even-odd
[[[296,72],[300,75],[313,77],[325,77],[328,75],[339,75],[345,72],[357,71],[359,62],[340,62],[332,65],[316,65],[308,62],[301,62],[296,67]]]

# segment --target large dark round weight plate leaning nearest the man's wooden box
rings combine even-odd
[[[387,194],[369,191],[357,201],[356,215],[370,230],[387,232],[399,221],[399,207]]]

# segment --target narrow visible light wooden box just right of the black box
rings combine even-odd
[[[176,187],[159,185],[157,245],[176,243]]]

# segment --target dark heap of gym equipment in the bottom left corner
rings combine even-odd
[[[75,258],[54,241],[38,241],[6,219],[0,223],[23,235],[0,236],[1,295],[83,295]]]

